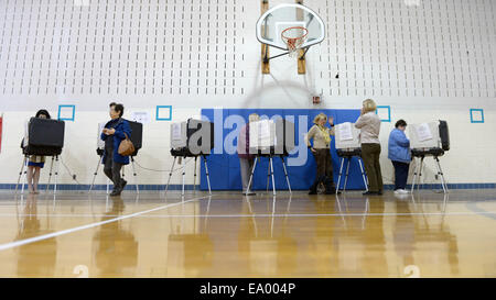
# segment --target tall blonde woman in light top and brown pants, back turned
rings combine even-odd
[[[368,177],[369,189],[364,195],[382,195],[382,173],[380,171],[380,119],[376,113],[377,105],[371,99],[363,102],[360,116],[355,127],[360,130],[362,159]]]

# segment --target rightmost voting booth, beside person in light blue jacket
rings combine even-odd
[[[429,123],[420,123],[409,125],[410,149],[413,159],[420,159],[418,164],[411,190],[414,190],[417,180],[422,177],[423,160],[425,157],[433,157],[438,168],[438,175],[444,193],[448,192],[448,184],[439,162],[439,157],[443,156],[450,149],[450,133],[446,121],[436,121]]]

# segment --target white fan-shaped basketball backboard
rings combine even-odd
[[[324,22],[314,11],[301,4],[280,4],[263,13],[257,22],[257,38],[262,44],[289,51],[281,33],[295,26],[308,30],[306,40],[300,48],[324,41]]]

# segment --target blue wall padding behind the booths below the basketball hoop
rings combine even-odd
[[[339,124],[343,122],[352,122],[354,123],[359,114],[359,110],[284,110],[284,109],[224,109],[222,110],[223,114],[223,124],[215,124],[216,133],[220,132],[222,125],[222,141],[225,141],[225,137],[236,130],[236,126],[233,129],[228,129],[225,125],[225,120],[229,115],[240,115],[245,119],[245,122],[248,122],[248,115],[251,113],[257,113],[259,115],[267,115],[269,118],[273,115],[281,115],[287,119],[287,116],[294,116],[294,126],[295,126],[295,143],[296,145],[300,143],[304,143],[303,134],[299,133],[299,115],[308,115],[308,124],[305,129],[305,133],[313,125],[313,119],[319,113],[325,113],[326,115],[334,116],[334,123]],[[214,122],[214,109],[202,109],[202,115],[208,118],[212,122]],[[303,125],[303,124],[302,124]],[[239,129],[238,129],[239,130]],[[219,134],[215,136],[216,143],[220,143],[218,138],[220,138]],[[224,142],[222,142],[224,144]],[[237,145],[237,134],[234,145]],[[224,148],[224,147],[223,147]],[[288,174],[290,178],[291,188],[293,190],[306,190],[313,184],[316,174],[315,159],[313,158],[312,153],[306,147],[304,148],[306,152],[306,160],[301,166],[288,166]],[[301,154],[300,154],[301,155]],[[298,153],[290,154],[289,157],[285,157],[285,162],[288,164],[288,158],[296,157]],[[334,137],[331,143],[331,156],[333,159],[333,170],[334,170],[334,182],[337,184],[337,177],[339,173],[341,158],[336,154]],[[237,153],[227,154],[225,149],[223,149],[223,154],[211,154],[207,156],[208,171],[211,175],[211,186],[213,190],[241,190],[241,175],[239,167],[239,158]],[[262,157],[257,163],[257,167],[255,169],[254,175],[254,190],[265,190],[267,189],[267,173],[269,166],[269,158]],[[204,164],[201,164],[201,189],[207,190],[207,181],[205,176],[205,167]],[[282,168],[282,163],[279,157],[274,157],[273,159],[273,168],[274,168],[274,177],[276,177],[276,189],[278,190],[287,190],[288,185],[284,178],[284,170]],[[346,170],[346,163],[344,165],[344,170]],[[341,186],[344,185],[344,176]],[[272,189],[272,180],[269,180],[269,189]],[[346,189],[365,189],[364,181],[362,178],[362,173],[359,169],[358,160],[356,157],[352,159],[352,164],[349,166],[349,177]]]

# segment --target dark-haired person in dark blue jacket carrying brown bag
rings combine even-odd
[[[131,138],[131,126],[122,119],[123,105],[115,102],[110,103],[110,121],[105,124],[100,138],[105,141],[103,164],[104,173],[114,182],[114,190],[110,196],[119,196],[126,185],[126,180],[120,178],[120,170],[123,165],[129,164],[129,157],[118,153],[119,145],[126,138],[126,134]]]

